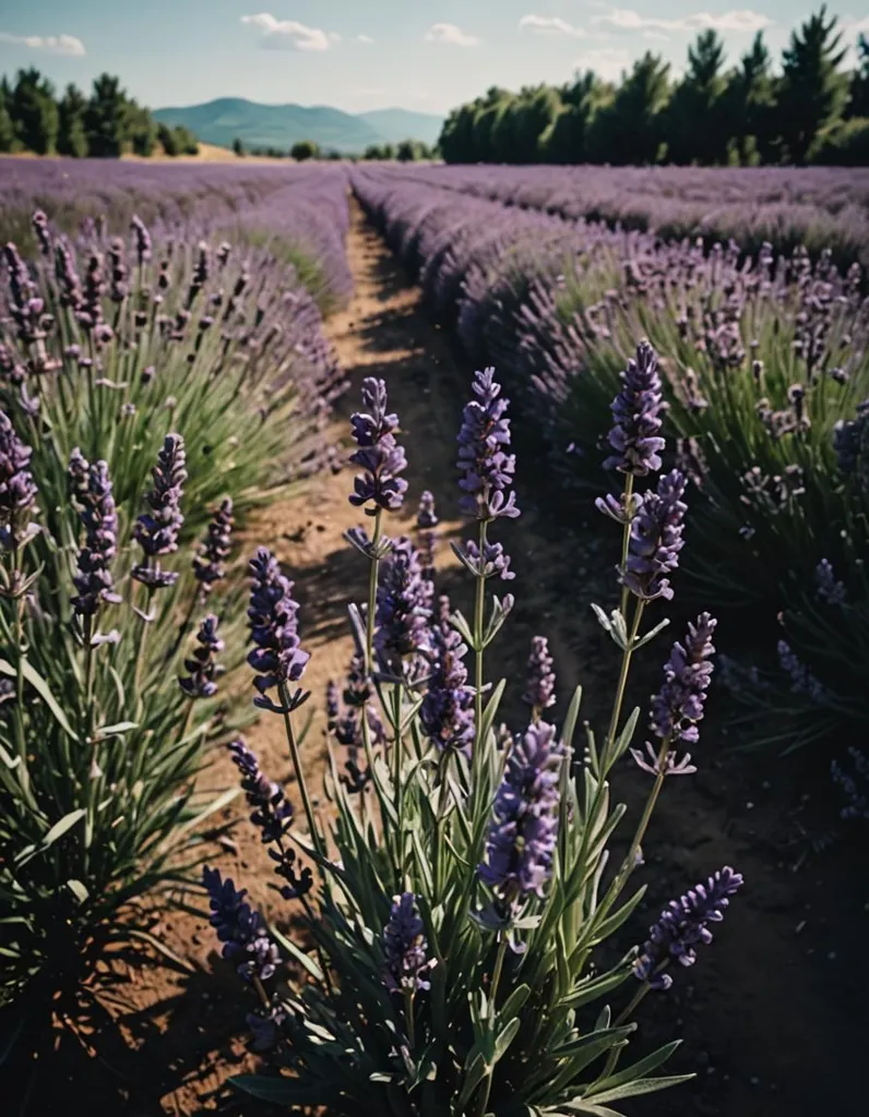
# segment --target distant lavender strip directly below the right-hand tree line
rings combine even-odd
[[[604,221],[665,239],[735,240],[756,256],[828,249],[842,268],[869,266],[869,171],[856,168],[428,166],[408,181]]]

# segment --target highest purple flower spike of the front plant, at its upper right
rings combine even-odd
[[[615,454],[604,462],[605,469],[645,477],[661,468],[661,409],[658,356],[649,342],[642,341],[622,373],[622,390],[613,401],[610,446]]]

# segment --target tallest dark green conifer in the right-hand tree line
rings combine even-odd
[[[835,16],[828,19],[823,4],[791,34],[791,45],[782,51],[778,133],[792,163],[805,163],[844,107],[848,79],[839,67],[846,50],[840,48],[842,36],[835,26]]]

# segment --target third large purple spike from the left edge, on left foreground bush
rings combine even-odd
[[[185,440],[180,435],[167,435],[163,448],[151,471],[153,488],[145,499],[151,506],[135,523],[133,537],[145,553],[145,562],[134,566],[132,576],[151,589],[174,585],[178,574],[160,569],[161,555],[178,550],[178,535],[183,526],[181,494],[187,480],[185,468]],[[158,562],[151,566],[150,560]]]

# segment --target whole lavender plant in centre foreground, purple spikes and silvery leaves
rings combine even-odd
[[[641,353],[651,367],[654,354]],[[495,729],[504,684],[492,687],[485,665],[513,603],[490,588],[512,584],[497,534],[500,518],[520,514],[516,458],[494,370],[475,375],[473,392],[457,461],[475,538],[456,546],[476,585],[471,618],[443,598],[435,605],[424,576],[431,563],[409,540],[388,534],[388,515],[404,498],[405,455],[382,382],[366,381],[365,410],[352,418],[362,472],[350,499],[374,531],[348,533],[369,564],[369,598],[367,610],[349,607],[356,656],[343,701],[351,715],[334,684],[327,698],[331,822],[312,808],[296,748],[296,710],[310,697],[306,656],[297,656],[304,615],[276,569],[264,580],[267,552],[253,566],[251,661],[270,672],[257,690],[276,690],[267,708],[285,722],[304,821],[293,822],[256,757],[230,747],[276,872],[295,882],[284,895],[299,901],[299,938],[267,927],[234,881],[206,870],[205,886],[224,956],[256,1002],[253,1046],[287,1071],[234,1081],[287,1110],[615,1115],[621,1099],[678,1085],[691,1076],[655,1073],[678,1041],[629,1061],[634,1016],[646,995],[678,980],[679,966],[693,964],[743,884],[724,867],[674,899],[648,934],[625,928],[646,890],[634,877],[664,784],[703,763],[698,724],[715,650],[708,614],[673,645],[650,699],[644,748],[631,748],[641,710],[625,717],[623,709],[635,653],[667,624],[655,614],[674,592],[687,479],[676,470],[655,478],[655,442],[625,458],[622,493],[603,502],[622,534],[621,603],[596,609],[621,657],[608,724],[575,747],[579,689],[560,728],[546,720],[555,678],[538,638],[529,724],[506,736]],[[612,445],[624,449],[636,431],[645,437],[657,407],[646,390],[639,412],[622,401]],[[429,504],[424,531],[434,529]],[[265,608],[266,599],[280,608]],[[263,649],[278,646],[292,655],[264,665]],[[353,752],[347,772],[337,752],[344,745]],[[626,809],[612,787],[632,753],[649,793],[627,851],[614,860],[610,840]]]

